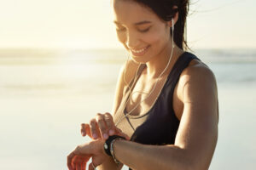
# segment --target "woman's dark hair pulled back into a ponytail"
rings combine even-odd
[[[178,12],[178,20],[175,24],[174,42],[178,48],[187,49],[188,44],[184,38],[185,24],[189,12],[189,0],[132,0],[151,8],[161,20],[170,21]],[[177,8],[173,8],[177,6]],[[172,29],[171,29],[172,35]]]

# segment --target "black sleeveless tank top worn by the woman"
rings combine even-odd
[[[198,58],[189,52],[184,52],[179,56],[160,91],[159,97],[146,114],[143,116],[126,116],[119,123],[118,127],[124,133],[131,134],[131,141],[154,145],[174,144],[179,120],[172,108],[172,96],[181,73],[192,59]],[[125,99],[121,102],[120,107],[124,103]],[[120,107],[113,117],[114,122],[118,122],[120,117],[124,117],[125,111]]]

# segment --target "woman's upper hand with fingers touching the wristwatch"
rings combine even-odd
[[[90,124],[81,124],[82,136],[88,135],[91,139],[108,139],[111,135],[120,135],[130,140],[130,137],[123,133],[113,123],[113,116],[110,113],[96,115],[96,118],[90,120]]]

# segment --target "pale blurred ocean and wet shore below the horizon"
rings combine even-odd
[[[218,83],[210,169],[256,167],[256,49],[197,49]],[[67,169],[80,123],[110,112],[121,49],[0,49],[1,169]],[[124,167],[123,169],[127,169]]]

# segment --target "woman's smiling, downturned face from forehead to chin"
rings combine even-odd
[[[119,42],[138,63],[148,62],[170,42],[170,27],[139,3],[113,0],[113,14]]]

